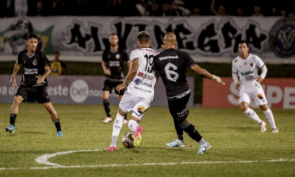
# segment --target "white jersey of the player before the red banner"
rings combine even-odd
[[[237,74],[241,87],[254,85],[258,78],[258,68],[262,68],[264,62],[257,56],[249,53],[248,58],[243,59],[240,56],[232,61],[232,72]]]

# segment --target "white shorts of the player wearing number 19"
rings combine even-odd
[[[152,100],[140,98],[125,92],[120,101],[119,107],[125,113],[132,110],[131,115],[141,121],[142,117],[150,107],[151,101]]]

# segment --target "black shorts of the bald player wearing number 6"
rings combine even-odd
[[[191,93],[183,96],[180,99],[172,101],[168,100],[168,107],[170,114],[172,115],[174,122],[181,124],[189,115],[189,110],[186,108],[186,104],[189,102],[189,96]]]

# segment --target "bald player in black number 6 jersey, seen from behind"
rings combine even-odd
[[[205,69],[199,67],[186,52],[176,50],[177,41],[173,32],[165,35],[163,40],[163,52],[154,57],[155,68],[159,71],[166,88],[168,106],[170,114],[174,120],[177,138],[166,145],[168,147],[184,147],[183,130],[192,139],[196,140],[200,146],[197,153],[205,153],[211,145],[206,142],[197,131],[196,127],[189,123],[189,110],[186,104],[189,101],[191,90],[186,81],[186,68],[190,68],[204,78],[215,80],[217,83],[225,83],[218,76],[210,74]]]

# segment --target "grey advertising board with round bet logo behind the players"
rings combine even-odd
[[[17,87],[10,85],[11,75],[0,75],[0,103],[12,103],[21,81],[17,75]],[[104,76],[48,76],[47,93],[53,104],[102,104],[102,86]],[[194,77],[187,77],[190,89],[194,91]],[[166,90],[161,78],[155,87],[155,96],[151,105],[167,106]],[[114,93],[109,95],[111,104],[119,105],[119,96]],[[194,96],[191,95],[188,106],[194,105]]]

